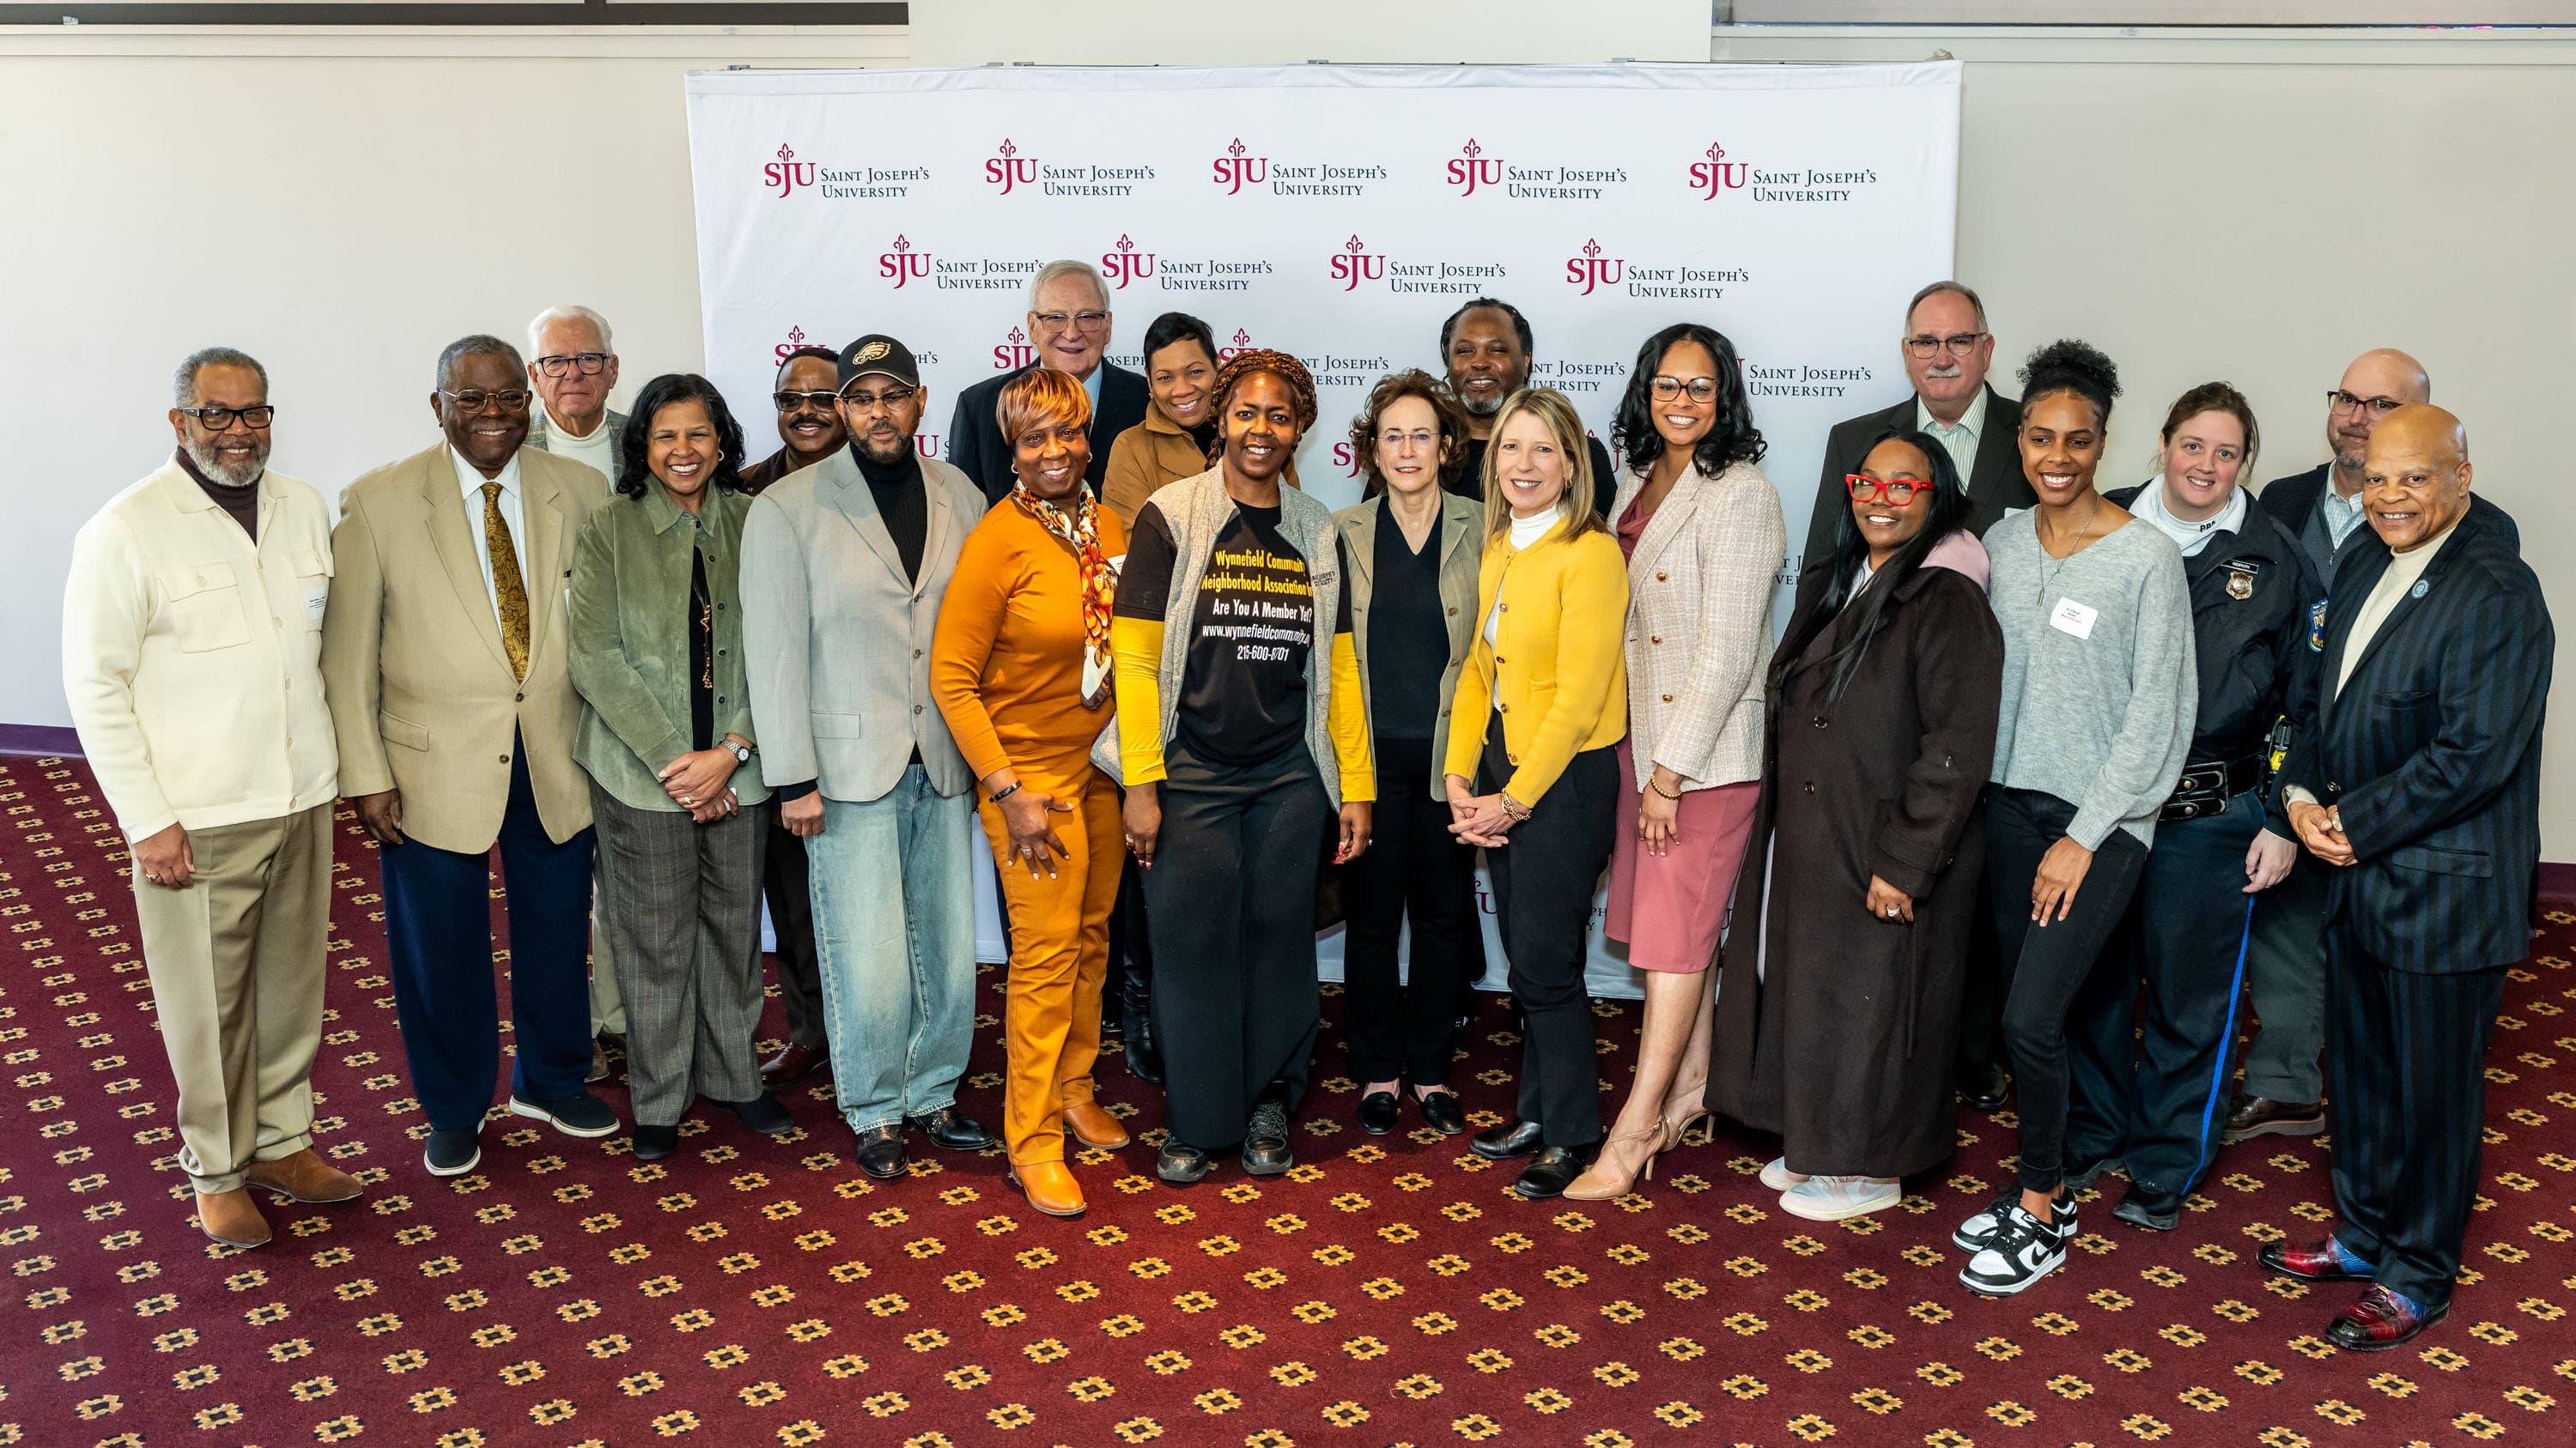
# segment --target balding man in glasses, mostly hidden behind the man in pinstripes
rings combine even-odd
[[[2329,593],[2347,557],[2344,544],[2372,536],[2362,526],[2370,433],[2380,417],[2421,402],[2432,402],[2424,363],[2396,348],[2352,358],[2326,392],[2326,461],[2262,490],[2264,513],[2298,538]],[[2488,518],[2509,549],[2522,549],[2501,508],[2473,492],[2468,510]],[[2324,618],[2313,624],[2311,644],[2324,644]],[[2318,1067],[2326,1049],[2326,884],[2329,868],[2303,850],[2290,879],[2254,897],[2246,997],[2262,1031],[2244,1051],[2246,1080],[2228,1103],[2226,1141],[2316,1136],[2326,1129],[2326,1072]]]

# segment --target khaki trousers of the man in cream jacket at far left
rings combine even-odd
[[[134,873],[144,971],[178,1080],[178,1165],[201,1193],[312,1147],[330,938],[330,804],[191,830],[188,889]]]

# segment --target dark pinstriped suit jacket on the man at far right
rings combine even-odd
[[[2532,948],[2555,634],[2496,518],[2460,518],[2334,693],[2352,618],[2391,559],[2375,533],[2344,544],[2316,709],[2280,773],[2336,806],[2352,840],[2354,863],[2326,868],[2326,917],[2398,971],[2478,971]]]

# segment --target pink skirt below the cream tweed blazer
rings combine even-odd
[[[1726,904],[1754,832],[1762,781],[1721,783],[1682,794],[1677,835],[1662,855],[1636,837],[1638,791],[1628,739],[1618,745],[1618,837],[1610,848],[1613,940],[1628,946],[1641,971],[1698,974],[1718,956]]]

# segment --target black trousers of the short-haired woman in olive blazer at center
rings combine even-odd
[[[1432,799],[1432,742],[1378,737],[1376,747],[1373,843],[1342,871],[1350,1072],[1363,1082],[1448,1085],[1476,850],[1448,832],[1448,804]],[[1414,938],[1409,979],[1399,979],[1396,935],[1406,917]]]

